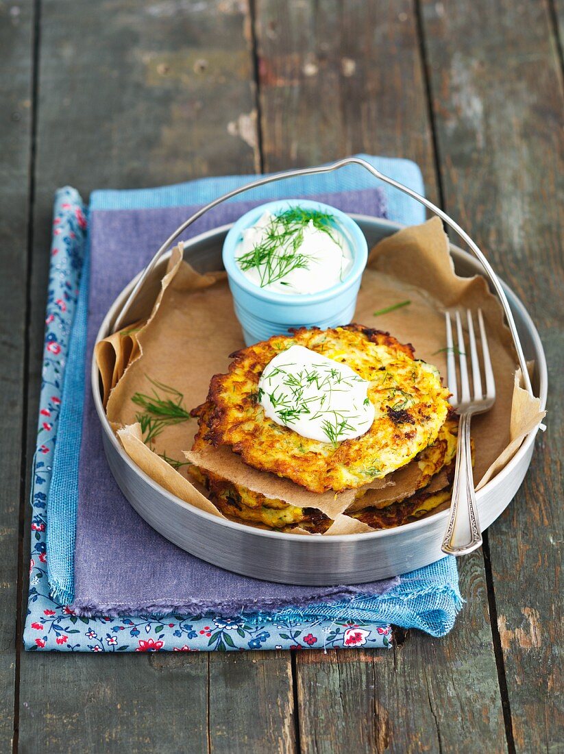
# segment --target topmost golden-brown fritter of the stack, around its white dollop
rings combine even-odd
[[[259,378],[265,366],[292,345],[346,364],[369,382],[368,397],[375,408],[369,431],[341,443],[324,443],[265,416],[257,397]],[[193,449],[201,441],[231,446],[250,466],[287,477],[311,492],[354,489],[409,463],[436,440],[449,409],[449,391],[434,366],[415,360],[410,345],[360,325],[301,328],[233,356],[228,373],[213,376],[207,402],[192,412],[200,419]]]

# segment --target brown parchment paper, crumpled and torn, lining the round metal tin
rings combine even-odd
[[[374,314],[406,300],[410,304],[403,308]],[[486,321],[497,400],[491,411],[472,422],[474,481],[480,487],[507,464],[523,437],[544,416],[539,400],[520,387],[516,354],[504,325],[501,305],[489,293],[483,277],[455,275],[448,239],[438,218],[399,231],[372,249],[354,321],[388,330],[400,342],[411,342],[415,357],[434,363],[443,379],[446,375],[443,312],[449,308],[472,311],[482,308]],[[412,461],[385,480],[375,480],[366,486],[369,492],[356,503],[353,503],[355,491],[339,495],[308,492],[289,480],[247,466],[228,448],[191,452],[197,430],[195,419],[164,428],[154,443],[146,446],[136,424],[139,406],[131,398],[137,392],[150,391],[149,378],[176,388],[183,395],[185,409],[192,409],[205,400],[211,376],[227,370],[228,354],[243,348],[244,342],[225,273],[198,274],[182,261],[182,244],[173,250],[149,320],[140,329],[137,326],[139,323],[126,328],[125,338],[113,335],[97,345],[104,391],[110,391],[107,415],[130,457],[182,500],[222,515],[205,497],[204,490],[186,477],[186,466],[175,470],[159,454],[180,463],[188,459],[266,497],[317,508],[334,521],[326,535],[370,531],[366,524],[344,515],[345,511],[367,504],[385,504],[417,489],[421,471],[417,462]],[[439,475],[434,486],[440,483]]]

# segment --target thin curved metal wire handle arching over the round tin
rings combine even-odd
[[[168,250],[170,244],[172,244],[173,241],[176,241],[176,238],[178,238],[186,228],[189,228],[189,226],[192,225],[193,222],[207,213],[208,210],[213,209],[213,207],[216,207],[218,204],[222,204],[222,202],[226,201],[227,199],[231,199],[231,197],[237,196],[238,194],[242,194],[246,191],[250,191],[250,189],[257,189],[259,186],[266,185],[267,183],[274,183],[275,181],[280,181],[285,178],[295,178],[297,176],[311,176],[316,175],[317,173],[332,173],[333,170],[339,170],[339,168],[345,167],[346,165],[360,165],[360,167],[363,167],[368,170],[369,173],[372,173],[375,178],[379,178],[381,181],[394,186],[395,189],[400,189],[400,191],[402,191],[404,194],[407,194],[410,197],[421,202],[421,204],[424,204],[425,207],[439,216],[440,219],[443,220],[443,222],[446,222],[446,225],[449,225],[449,227],[452,228],[452,230],[456,231],[458,236],[460,236],[460,238],[462,238],[462,240],[466,242],[467,246],[470,247],[472,253],[474,253],[474,256],[480,261],[481,265],[486,271],[486,275],[489,278],[492,286],[494,287],[495,293],[498,294],[499,300],[501,301],[501,306],[504,309],[511,336],[513,336],[513,343],[515,344],[517,357],[519,358],[519,365],[521,367],[521,372],[523,373],[523,382],[525,383],[526,390],[529,391],[529,393],[532,395],[533,392],[531,381],[529,379],[529,370],[527,369],[527,363],[525,355],[523,354],[523,347],[521,346],[519,334],[517,333],[515,326],[515,320],[513,320],[513,314],[511,313],[509,302],[507,302],[507,296],[505,296],[498,276],[495,274],[495,271],[493,270],[492,265],[489,264],[486,256],[484,256],[484,254],[477,247],[477,244],[472,241],[466,231],[464,231],[460,227],[460,225],[458,225],[458,223],[450,218],[446,214],[446,212],[440,210],[439,207],[436,207],[432,201],[429,201],[424,196],[421,196],[417,192],[414,192],[412,189],[409,189],[407,186],[403,185],[403,183],[398,183],[397,181],[394,181],[393,178],[380,173],[379,170],[376,170],[376,168],[373,167],[369,162],[363,160],[363,158],[360,157],[347,157],[327,165],[319,165],[317,167],[302,167],[296,170],[284,170],[282,173],[273,173],[271,176],[265,176],[264,178],[259,178],[256,181],[252,181],[250,183],[246,183],[243,186],[239,186],[238,189],[233,189],[233,191],[230,191],[227,194],[224,194],[217,199],[210,201],[210,203],[206,204],[205,207],[201,207],[201,209],[198,210],[198,212],[195,212],[192,217],[189,217],[189,219],[185,220],[185,222],[182,222],[182,225],[179,225],[179,227],[176,228],[176,231],[174,231],[173,234],[171,234],[167,238],[167,240],[164,241],[164,244],[157,251],[157,253],[155,253],[155,256],[153,256],[149,264],[143,270],[141,276],[139,277],[139,280],[137,280],[135,287],[131,291],[130,296],[128,296],[127,301],[118,314],[118,317],[116,317],[113,328],[114,332],[128,324],[127,314],[133,307],[133,302],[135,302],[137,296],[139,295],[139,291],[143,288],[143,285],[146,283],[147,278],[155,269],[155,265],[157,265],[158,260],[161,259],[161,256]]]

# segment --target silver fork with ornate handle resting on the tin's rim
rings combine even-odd
[[[495,403],[495,380],[492,361],[489,358],[488,341],[482,310],[478,309],[478,323],[480,326],[480,341],[482,344],[483,374],[486,379],[486,390],[482,389],[480,375],[480,360],[474,335],[472,312],[467,310],[468,342],[472,363],[472,394],[466,360],[466,347],[459,311],[455,311],[455,323],[458,345],[452,342],[451,315],[446,314],[446,379],[452,393],[451,405],[458,410],[458,445],[455,461],[455,480],[452,485],[452,502],[450,504],[449,524],[443,539],[443,552],[449,555],[466,555],[476,550],[482,544],[480,522],[476,493],[474,492],[474,478],[472,476],[472,457],[470,446],[470,422],[474,414],[489,411]],[[456,379],[455,352],[458,353],[460,364],[460,392]]]

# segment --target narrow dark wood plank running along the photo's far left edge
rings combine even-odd
[[[0,2],[0,749],[14,734],[34,8]]]

